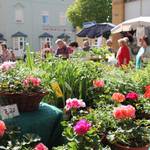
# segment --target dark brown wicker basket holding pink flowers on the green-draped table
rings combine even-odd
[[[17,104],[19,112],[32,112],[39,109],[39,103],[48,93],[0,93],[0,105]]]

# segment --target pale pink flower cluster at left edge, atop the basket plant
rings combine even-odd
[[[14,68],[15,66],[16,66],[15,62],[8,61],[8,62],[4,62],[3,64],[1,64],[0,69],[2,71],[8,71],[8,70]]]

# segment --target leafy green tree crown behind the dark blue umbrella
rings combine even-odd
[[[75,0],[68,8],[67,16],[75,27],[89,21],[111,22],[112,0]]]

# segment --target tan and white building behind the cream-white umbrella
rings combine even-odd
[[[150,0],[112,0],[112,23],[119,24],[125,20],[150,16]],[[119,34],[113,36],[114,48],[118,48]]]

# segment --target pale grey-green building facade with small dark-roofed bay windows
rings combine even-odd
[[[73,0],[0,0],[0,33],[7,45],[21,55],[25,43],[35,50],[58,38],[74,40],[75,32],[66,17]]]

